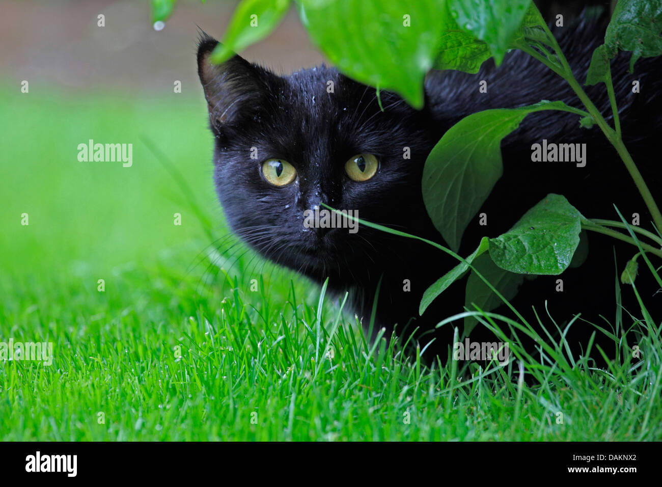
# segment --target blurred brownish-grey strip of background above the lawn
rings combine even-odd
[[[9,80],[84,91],[172,92],[181,80],[199,95],[197,27],[220,38],[238,1],[179,0],[163,30],[150,21],[149,0],[3,0],[0,66]],[[97,15],[105,27],[97,27]],[[322,62],[294,9],[269,38],[242,54],[276,72]]]

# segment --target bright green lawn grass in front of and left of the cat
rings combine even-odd
[[[651,323],[627,335],[641,358],[621,343],[608,370],[562,344],[511,345],[529,381],[517,361],[428,368],[366,343],[340,303],[230,244],[201,96],[11,87],[0,110],[0,341],[54,344],[51,366],[0,361],[2,440],[662,438]],[[131,142],[133,167],[78,162],[89,138]]]

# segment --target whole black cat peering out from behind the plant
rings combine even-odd
[[[592,50],[600,43],[602,27],[600,21],[583,21],[558,36],[580,81],[585,79]],[[421,178],[426,157],[444,132],[463,117],[488,108],[516,107],[541,99],[579,107],[573,91],[545,66],[517,51],[508,54],[499,68],[486,62],[477,75],[430,74],[422,111],[383,91],[382,112],[374,89],[333,68],[279,77],[238,56],[222,66],[211,66],[207,56],[215,44],[208,37],[201,40],[199,74],[216,136],[214,179],[232,229],[266,258],[318,284],[329,278],[329,289],[337,294],[350,291],[355,312],[364,324],[369,321],[381,280],[377,327],[391,330],[397,323],[397,332],[404,339],[418,327],[415,338],[421,347],[436,337],[436,346],[430,350],[445,351],[452,330],[434,331],[434,325],[463,311],[463,282],[453,284],[422,317],[418,304],[424,290],[455,266],[456,260],[420,241],[364,226],[356,234],[346,229],[308,229],[303,225],[304,211],[320,202],[355,209],[366,221],[443,244],[426,213]],[[630,75],[626,72],[628,56],[621,55],[612,63],[624,140],[657,201],[662,201],[662,170],[659,152],[651,148],[662,128],[660,65],[659,60],[639,60]],[[479,92],[480,80],[487,81],[487,93]],[[632,93],[634,80],[639,81],[640,93]],[[328,81],[334,82],[334,93],[327,92]],[[587,87],[587,92],[603,114],[610,114],[604,85]],[[611,117],[608,122],[612,123]],[[587,165],[532,162],[531,146],[543,139],[586,143]],[[403,158],[404,147],[409,148],[410,159]],[[257,159],[251,158],[254,148]],[[344,164],[356,154],[377,156],[379,171],[373,178],[363,182],[348,178]],[[504,174],[479,211],[487,213],[488,225],[479,225],[478,217],[473,219],[462,239],[459,254],[463,256],[476,248],[480,237],[507,231],[547,193],[565,195],[587,217],[618,219],[612,207],[616,203],[626,217],[639,213],[642,224],[650,221],[615,150],[597,127],[581,129],[577,115],[547,111],[528,116],[502,142],[502,156]],[[269,184],[260,172],[260,163],[269,158],[289,161],[297,171],[296,179],[281,187]],[[636,248],[590,235],[585,264],[558,276],[564,281],[563,292],[555,290],[557,276],[539,277],[524,282],[512,302],[529,318],[530,307],[535,306],[546,323],[551,322],[545,301],[559,324],[580,311],[600,325],[604,321],[598,313],[605,313],[613,323],[614,247],[620,273]],[[651,298],[657,286],[645,277],[647,270],[640,274],[640,292],[659,322],[662,293]],[[409,290],[405,281],[410,283]],[[634,303],[632,290],[624,289],[624,305],[638,315]],[[580,330],[576,338],[585,338],[585,334]]]

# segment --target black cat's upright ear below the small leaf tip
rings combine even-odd
[[[198,44],[198,76],[205,90],[212,130],[221,133],[254,117],[263,106],[267,72],[235,54],[222,64],[209,58],[218,41],[204,32]]]

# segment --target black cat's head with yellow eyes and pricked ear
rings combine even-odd
[[[331,68],[281,77],[239,56],[213,66],[215,45],[201,41],[199,75],[216,136],[216,189],[234,232],[318,280],[352,282],[398,258],[391,235],[307,228],[305,211],[326,203],[412,231],[425,214],[420,178],[434,144],[426,113],[387,92],[381,111],[374,89]]]

